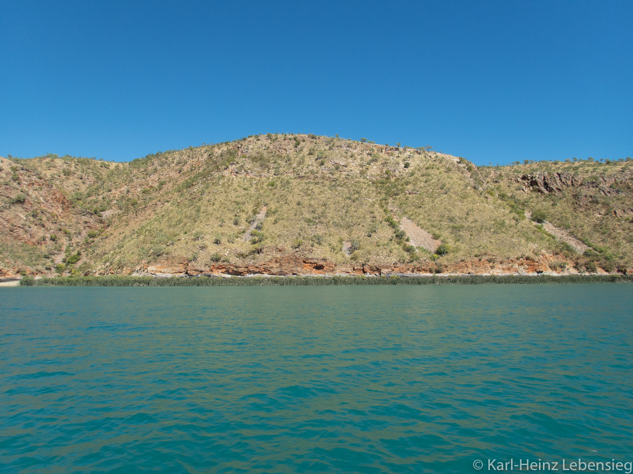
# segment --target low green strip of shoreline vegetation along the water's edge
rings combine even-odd
[[[633,283],[633,275],[451,275],[451,276],[249,276],[23,277],[19,286],[342,286],[427,284]]]

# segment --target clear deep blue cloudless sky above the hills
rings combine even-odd
[[[266,132],[477,164],[633,155],[633,2],[0,3],[0,155]]]

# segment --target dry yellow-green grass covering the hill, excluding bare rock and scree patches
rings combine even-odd
[[[522,215],[535,209],[577,238],[608,249],[618,262],[632,261],[630,162],[477,169],[435,152],[313,135],[254,136],[118,164],[54,156],[2,161],[5,202],[22,186],[35,210],[44,208],[53,191],[72,203],[56,216],[55,228],[70,229],[61,246],[35,246],[3,228],[4,266],[41,270],[43,252],[54,251],[59,259],[77,250],[81,260],[66,270],[120,272],[160,260],[257,263],[294,251],[337,264],[437,258],[423,249],[408,251],[389,226],[391,214],[445,243],[450,251],[440,262],[565,251]],[[48,194],[12,181],[11,166],[49,186]],[[540,195],[517,183],[521,174],[554,171],[575,173],[588,183],[615,176],[620,193],[601,197],[587,185]],[[264,206],[265,219],[244,240]],[[4,216],[19,219],[16,209],[5,204]],[[53,219],[46,214],[45,221],[50,232]],[[103,233],[87,238],[86,229],[100,226]],[[354,252],[343,252],[344,241],[353,243]]]

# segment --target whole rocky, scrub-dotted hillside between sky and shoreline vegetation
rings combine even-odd
[[[630,272],[632,174],[301,134],[0,158],[0,276]]]

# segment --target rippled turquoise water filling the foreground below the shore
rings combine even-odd
[[[2,288],[0,471],[631,461],[632,289]]]

